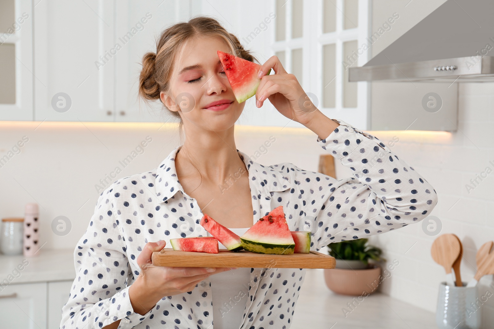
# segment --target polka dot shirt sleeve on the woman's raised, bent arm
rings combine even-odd
[[[323,194],[305,220],[314,248],[388,232],[427,217],[437,204],[431,184],[378,138],[335,121],[340,126],[326,139],[318,137],[317,143],[354,177],[336,180],[323,175],[322,182],[310,186]],[[320,180],[322,174],[315,174]]]

